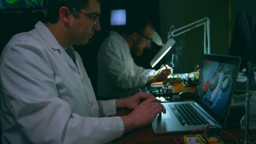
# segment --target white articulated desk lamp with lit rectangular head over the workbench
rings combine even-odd
[[[152,59],[150,62],[151,67],[155,67],[155,65],[166,55],[166,53],[171,49],[171,47],[176,43],[176,41],[173,39],[174,37],[183,34],[185,32],[190,31],[191,29],[194,29],[199,26],[204,26],[205,31],[204,31],[204,53],[205,54],[210,54],[210,19],[208,17],[205,17],[199,21],[195,21],[193,23],[190,23],[187,26],[174,29],[172,31],[173,26],[170,28],[170,32],[168,33],[168,41],[165,45],[162,44],[162,41],[159,40],[159,35],[153,34],[153,41],[154,41],[154,36],[156,37],[155,40],[158,42],[155,42],[158,45],[163,45],[161,49],[159,50],[158,53],[156,53],[155,57]],[[207,41],[206,41],[207,38]],[[160,38],[161,39],[161,38]],[[207,43],[207,45],[206,45]]]

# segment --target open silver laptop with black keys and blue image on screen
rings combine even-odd
[[[224,128],[241,58],[204,55],[194,101],[162,103],[166,114],[152,121],[155,134],[193,131],[206,125]]]

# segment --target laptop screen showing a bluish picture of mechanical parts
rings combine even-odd
[[[239,57],[205,55],[202,61],[196,102],[218,122],[225,122],[240,66]]]

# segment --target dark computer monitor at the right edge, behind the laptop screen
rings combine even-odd
[[[246,69],[251,80],[250,85],[255,86],[254,69],[256,64],[256,17],[243,13],[236,14],[234,31],[232,33],[229,55],[240,56],[240,70]]]

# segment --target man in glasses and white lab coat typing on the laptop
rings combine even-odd
[[[107,143],[165,112],[147,93],[96,101],[72,45],[86,44],[100,31],[100,2],[56,0],[48,4],[49,22],[39,21],[32,31],[14,35],[1,55],[3,143]],[[140,98],[146,100],[139,104]],[[135,110],[118,117],[114,116],[117,107]]]

